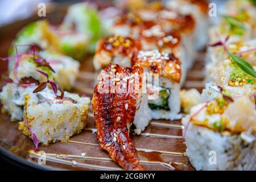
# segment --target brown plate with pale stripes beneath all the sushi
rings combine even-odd
[[[65,11],[61,9],[58,12],[48,14],[47,19],[55,24],[61,22]],[[38,18],[34,17],[0,28],[1,57],[7,55],[11,41],[20,28],[36,19]],[[92,57],[93,55],[90,55],[81,62],[79,78],[76,88],[72,92],[92,97],[95,78]],[[7,63],[0,62],[1,75],[6,73],[6,69]],[[195,66],[188,73],[184,88],[197,88],[201,91],[204,86],[203,69],[204,52],[201,52],[197,55]],[[1,81],[0,88],[4,84]],[[28,153],[34,148],[34,144],[17,128],[17,122],[10,122],[8,115],[0,114],[0,152],[17,162],[41,169],[121,170],[117,164],[110,160],[108,153],[98,146],[93,133],[94,118],[91,109],[86,129],[81,134],[71,137],[70,142],[39,146],[39,151],[42,151],[40,154],[46,154],[46,164],[42,164],[44,156],[42,158],[34,152]],[[142,135],[131,135],[131,138],[139,150],[139,159],[147,170],[194,170],[185,156],[186,146],[181,135],[180,121],[155,120],[147,126]]]

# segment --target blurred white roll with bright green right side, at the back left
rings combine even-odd
[[[67,15],[65,15],[61,23],[60,30],[72,32],[73,34],[73,36],[64,36],[62,40],[62,43],[64,43],[64,45],[61,45],[63,46],[62,48],[67,48],[66,50],[64,49],[65,51],[72,52],[72,46],[75,46],[75,43],[79,45],[81,43],[80,38],[84,35],[82,40],[85,40],[84,44],[88,43],[84,47],[84,51],[94,52],[95,44],[102,36],[101,21],[97,8],[85,2],[75,3],[69,7]]]

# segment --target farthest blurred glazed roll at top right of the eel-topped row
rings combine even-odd
[[[176,10],[183,15],[192,15],[195,19],[196,50],[199,51],[207,44],[208,36],[208,1],[207,0],[170,0],[166,3],[167,9]]]

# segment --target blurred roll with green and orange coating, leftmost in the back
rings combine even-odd
[[[34,44],[37,50],[49,49],[51,51],[60,51],[59,38],[47,20],[32,22],[22,28],[13,41],[9,55],[15,54],[15,45],[27,44]],[[29,46],[19,46],[18,53],[25,53],[29,48]]]

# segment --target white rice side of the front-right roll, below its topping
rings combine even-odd
[[[183,124],[188,119],[183,118]],[[185,135],[187,156],[196,170],[256,170],[255,136],[248,143],[242,134],[225,136],[190,123]]]

